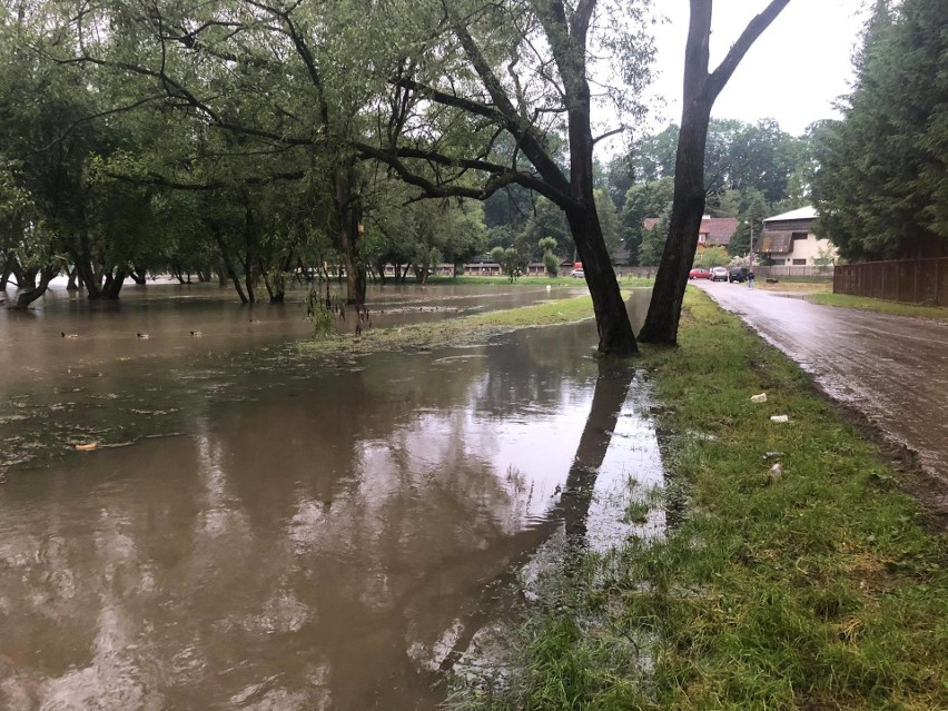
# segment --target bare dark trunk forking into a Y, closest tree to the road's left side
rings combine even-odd
[[[704,152],[711,109],[748,49],[789,2],[771,0],[744,28],[718,68],[709,72],[711,0],[691,0],[669,238],[655,276],[649,314],[639,334],[642,340],[666,345],[678,342],[682,298],[704,213]]]

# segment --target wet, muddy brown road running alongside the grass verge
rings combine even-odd
[[[928,503],[948,512],[948,324],[820,306],[745,284],[697,285],[830,396],[915,450],[935,480]]]

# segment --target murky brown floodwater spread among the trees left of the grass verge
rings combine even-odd
[[[541,547],[663,525],[623,521],[661,462],[648,383],[592,357],[591,322],[323,363],[288,345],[296,305],[253,324],[192,293],[0,320],[2,709],[433,709]]]

